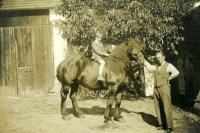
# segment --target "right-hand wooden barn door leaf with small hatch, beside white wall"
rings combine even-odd
[[[53,86],[52,26],[15,28],[18,94],[46,93]]]

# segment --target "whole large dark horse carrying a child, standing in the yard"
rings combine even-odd
[[[91,90],[107,90],[107,107],[105,109],[105,122],[112,121],[111,108],[113,100],[115,100],[114,120],[125,122],[120,115],[121,95],[125,84],[131,72],[131,61],[136,60],[143,65],[144,56],[141,53],[141,47],[134,41],[129,39],[126,43],[122,43],[113,50],[109,57],[104,57],[106,65],[103,71],[103,77],[106,79],[104,83],[98,82],[99,63],[84,57],[82,55],[74,55],[57,67],[57,79],[61,82],[61,114],[63,119],[68,119],[66,111],[66,98],[70,91],[70,99],[72,101],[75,116],[84,118],[77,104],[78,85]]]

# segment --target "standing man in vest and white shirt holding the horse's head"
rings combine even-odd
[[[159,123],[158,130],[165,129],[166,133],[173,131],[171,87],[169,81],[179,75],[179,71],[171,64],[165,61],[163,52],[156,53],[158,61],[157,66],[153,66],[146,60],[144,65],[149,71],[155,73],[154,85],[154,104]]]

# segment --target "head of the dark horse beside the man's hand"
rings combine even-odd
[[[134,39],[129,39],[126,44],[129,46],[127,54],[131,60],[135,60],[139,65],[144,65],[144,55],[142,53],[142,46],[137,44]]]

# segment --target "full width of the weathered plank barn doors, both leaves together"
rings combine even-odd
[[[52,26],[0,28],[0,92],[47,93],[54,85]]]

